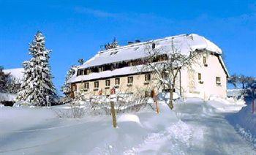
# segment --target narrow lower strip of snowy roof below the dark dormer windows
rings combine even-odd
[[[103,77],[113,77],[116,75],[132,75],[136,74],[138,72],[142,72],[143,65],[138,65],[136,67],[124,67],[120,69],[114,69],[114,70],[107,70],[103,72],[92,72],[89,75],[80,75],[76,76],[73,75],[69,80],[68,83],[76,83],[83,80],[94,80],[94,79],[100,79]],[[145,71],[146,72],[146,71]]]

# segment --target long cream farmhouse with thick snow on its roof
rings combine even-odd
[[[152,43],[153,42],[153,43]],[[182,69],[177,77],[175,91],[182,97],[227,96],[227,77],[229,76],[222,60],[222,50],[205,37],[197,34],[182,34],[148,42],[130,42],[125,46],[108,45],[106,50],[99,51],[77,70],[69,79],[72,87],[72,97],[82,90],[86,97],[92,95],[109,95],[111,88],[118,92],[134,94],[144,90],[148,95],[155,88],[151,72],[143,71],[143,59],[147,58],[146,47],[152,44],[156,49],[171,50],[175,43],[182,54],[198,52],[200,58],[192,69]],[[154,45],[153,45],[154,44]],[[162,61],[162,55],[157,58]],[[150,94],[150,93],[149,93]]]

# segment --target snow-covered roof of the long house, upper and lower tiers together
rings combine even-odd
[[[213,53],[222,54],[222,50],[215,45],[213,42],[210,42],[205,37],[202,37],[197,34],[181,34],[173,37],[165,37],[163,39],[155,39],[148,42],[139,42],[132,45],[121,46],[118,48],[113,48],[110,50],[99,51],[94,57],[86,61],[83,65],[78,67],[78,69],[95,67],[102,64],[110,64],[118,61],[128,61],[138,58],[145,58],[148,56],[149,43],[154,42],[156,49],[163,49],[163,52],[171,51],[172,45],[180,50],[184,55],[189,54],[191,51],[195,50],[208,50]],[[130,75],[141,72],[141,69],[138,69],[142,66],[135,67],[124,67],[120,69],[114,69],[112,71],[104,72],[93,72],[89,75],[73,75],[68,83],[76,83],[83,80],[93,80],[100,79],[103,77],[113,77],[117,75]]]

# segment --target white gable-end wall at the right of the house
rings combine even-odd
[[[203,64],[203,56],[206,56],[206,64]],[[192,69],[181,72],[181,86],[184,89],[185,97],[200,97],[208,99],[211,96],[227,97],[227,75],[222,68],[217,56],[203,54],[198,58],[198,64],[193,65]],[[198,80],[198,73],[201,80]],[[218,84],[216,78],[220,77]]]

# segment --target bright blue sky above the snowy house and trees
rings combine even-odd
[[[256,75],[256,1],[4,1],[0,0],[0,65],[22,67],[37,31],[53,50],[54,83],[114,37],[128,41],[200,34],[216,43],[232,73]]]

